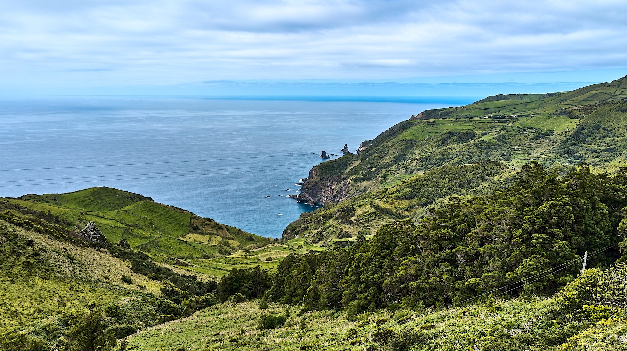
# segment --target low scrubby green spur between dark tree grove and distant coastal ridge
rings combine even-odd
[[[283,240],[306,238],[315,244],[347,245],[360,232],[373,235],[386,223],[416,219],[424,206],[448,195],[490,190],[494,183],[488,180],[511,173],[511,169],[492,162],[437,168],[388,188],[303,213],[283,231]]]

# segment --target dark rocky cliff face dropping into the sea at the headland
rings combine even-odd
[[[320,180],[317,178],[316,167],[309,170],[307,183],[300,188],[297,201],[309,205],[324,204],[327,202],[338,203],[350,197],[350,180],[340,176],[331,176]]]

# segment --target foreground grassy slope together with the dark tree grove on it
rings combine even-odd
[[[626,185],[625,170],[525,166],[507,190],[449,198],[418,225],[383,226],[348,250],[289,255],[270,275],[233,270],[219,283],[226,302],[140,330],[129,345],[627,350]]]

